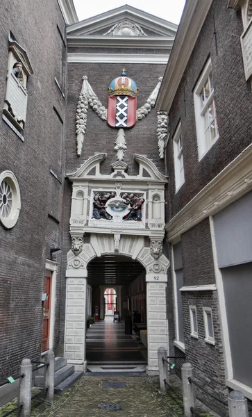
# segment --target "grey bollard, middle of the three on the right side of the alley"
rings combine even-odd
[[[183,363],[181,373],[185,417],[192,417],[191,407],[196,408],[196,394],[194,384],[188,380],[189,377],[194,377],[194,370],[191,363]]]

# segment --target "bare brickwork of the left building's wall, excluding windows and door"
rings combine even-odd
[[[63,83],[65,46],[59,30],[64,36],[65,23],[56,0],[6,0],[0,4],[0,14],[2,108],[6,92],[9,31],[26,50],[34,71],[27,83],[24,142],[0,119],[0,172],[14,172],[21,190],[21,211],[17,224],[9,230],[0,224],[2,379],[15,373],[24,357],[40,357],[45,260],[50,247],[61,247],[63,126],[53,106],[64,121],[65,100],[54,77]],[[56,172],[59,181],[50,169]],[[59,254],[54,259],[60,264]],[[60,265],[56,288],[56,350],[59,291]]]

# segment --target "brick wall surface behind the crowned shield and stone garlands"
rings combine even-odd
[[[113,50],[110,52],[112,53]],[[114,151],[118,129],[112,129],[102,121],[91,108],[87,113],[87,131],[80,157],[76,155],[75,118],[78,96],[81,92],[82,77],[87,79],[95,94],[107,107],[108,87],[117,76],[121,74],[121,64],[68,64],[68,99],[67,99],[67,143],[66,143],[66,169],[67,172],[75,171],[87,158],[95,152],[106,152],[107,158],[101,165],[103,174],[110,174],[111,163],[116,161]],[[143,106],[149,95],[156,87],[158,78],[163,75],[165,65],[126,65],[126,74],[137,83],[137,108]],[[165,173],[164,161],[158,156],[158,139],[156,136],[157,117],[156,110],[143,120],[138,121],[132,129],[125,130],[127,150],[124,154],[124,162],[128,163],[128,174],[138,173],[138,164],[133,160],[133,154],[142,154],[150,158],[158,169]]]

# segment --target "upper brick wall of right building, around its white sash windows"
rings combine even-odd
[[[169,113],[169,218],[176,215],[251,143],[251,85],[246,83],[244,77],[240,44],[242,32],[240,13],[227,8],[225,1],[214,0]],[[199,161],[193,89],[209,56],[212,61],[219,139]],[[185,183],[175,194],[172,137],[179,120],[183,137]]]

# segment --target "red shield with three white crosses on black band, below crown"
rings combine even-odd
[[[129,129],[137,119],[137,97],[108,97],[107,123],[110,127]]]

